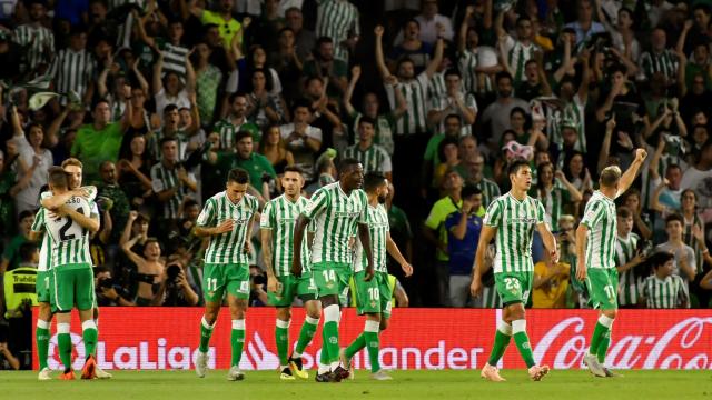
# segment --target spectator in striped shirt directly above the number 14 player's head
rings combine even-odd
[[[344,152],[344,158],[353,158],[364,166],[364,173],[380,172],[388,180],[393,179],[390,156],[386,149],[374,143],[376,121],[369,117],[358,120],[358,142]]]

